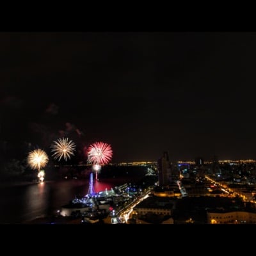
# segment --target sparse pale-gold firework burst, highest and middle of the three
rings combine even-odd
[[[70,159],[71,155],[74,156],[74,151],[76,151],[75,143],[72,140],[68,141],[68,138],[54,141],[51,148],[53,152],[52,157],[58,159],[58,161],[60,161],[62,157],[67,161],[67,159]]]

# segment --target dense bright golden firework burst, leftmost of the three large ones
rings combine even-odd
[[[44,150],[38,148],[29,152],[27,160],[32,169],[38,169],[40,171],[40,168],[48,163],[49,158]]]

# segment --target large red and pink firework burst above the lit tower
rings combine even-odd
[[[108,164],[112,158],[113,151],[108,143],[95,142],[88,147],[88,164]]]

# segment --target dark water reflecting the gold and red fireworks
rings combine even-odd
[[[124,179],[94,181],[95,192],[129,182]],[[88,193],[88,180],[61,180],[12,185],[0,188],[0,223],[26,223],[50,216],[68,204],[76,195]]]

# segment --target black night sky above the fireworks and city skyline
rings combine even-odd
[[[1,33],[0,141],[104,141],[114,163],[256,159],[255,45],[245,32]]]

